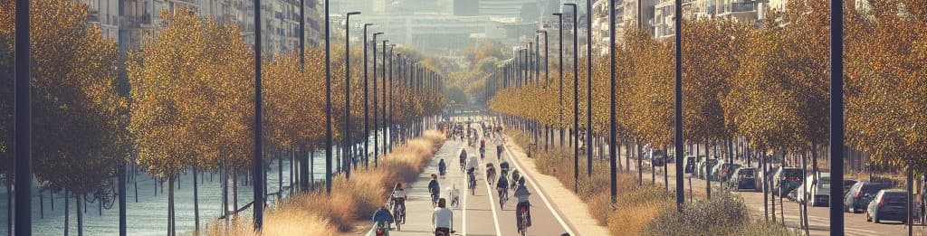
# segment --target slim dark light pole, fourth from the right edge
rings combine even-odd
[[[586,145],[586,177],[592,178],[592,0],[586,0],[586,143],[585,145]]]

